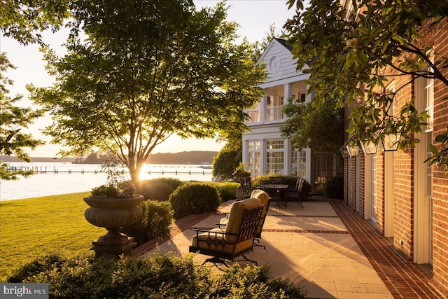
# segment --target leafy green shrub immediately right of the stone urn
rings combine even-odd
[[[126,235],[134,237],[135,242],[141,245],[169,232],[174,213],[169,202],[146,200],[140,207],[143,215],[139,222],[123,228]]]

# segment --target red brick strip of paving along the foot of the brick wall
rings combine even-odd
[[[330,204],[394,298],[445,298],[430,286],[430,277],[423,270],[400,258],[388,240],[377,235],[348,205]]]

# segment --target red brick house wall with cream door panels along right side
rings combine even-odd
[[[421,44],[448,57],[447,21],[426,30]],[[447,69],[443,71],[448,77]],[[428,111],[428,125],[414,135],[420,141],[415,148],[371,155],[360,151],[344,158],[344,201],[380,235],[391,238],[397,258],[426,267],[431,284],[447,295],[448,176],[424,161],[432,155],[429,146],[435,137],[447,129],[448,86],[437,79],[396,75],[391,67],[385,69],[385,92],[396,91],[395,111],[414,97],[417,109]]]

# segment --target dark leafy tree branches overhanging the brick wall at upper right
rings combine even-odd
[[[426,29],[446,22],[448,2],[347,0],[351,11],[344,10],[339,0],[310,0],[305,9],[302,2],[288,1],[290,7],[296,4],[297,13],[285,28],[297,69],[310,74],[314,105],[337,99],[339,108],[349,106],[353,141],[378,142],[384,134],[400,132],[399,148],[414,146],[418,142],[414,133],[421,132],[428,114],[418,111],[413,101],[393,114],[391,103],[397,92],[417,78],[448,85],[447,57],[421,43]],[[395,76],[410,75],[409,81],[389,94],[384,92],[387,67],[394,69]],[[448,153],[431,148],[434,162],[447,165]]]

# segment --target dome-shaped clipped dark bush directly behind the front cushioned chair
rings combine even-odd
[[[180,186],[169,195],[169,201],[176,219],[190,214],[215,211],[221,204],[218,189],[204,183],[186,183]]]

